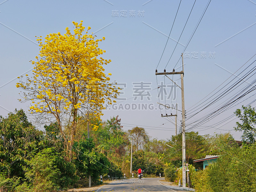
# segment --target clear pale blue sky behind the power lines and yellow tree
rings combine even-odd
[[[106,73],[112,73],[111,81],[117,81],[123,86],[124,90],[120,99],[128,99],[118,100],[117,102],[121,103],[109,106],[108,110],[104,111],[102,119],[106,120],[119,115],[124,130],[137,125],[145,128],[152,138],[170,138],[175,134],[175,126],[170,122],[170,120],[174,122],[174,118],[163,118],[161,113],[175,114],[176,111],[165,112],[165,109],[160,111],[157,102],[172,105],[178,103],[178,108],[181,110],[180,89],[176,87],[170,94],[172,82],[167,77],[158,76],[158,85],[161,85],[161,81],[167,85],[165,97],[161,95],[164,93],[161,90],[164,89],[158,89],[160,91],[158,99],[156,66],[159,63],[158,72],[164,71],[188,19],[180,41],[166,66],[166,71],[171,72],[178,62],[175,71],[180,70],[181,52],[204,12],[207,2],[196,0],[188,19],[194,1],[182,0],[173,24],[180,1],[2,0],[0,2],[0,114],[6,116],[15,108],[28,110],[29,103],[18,102],[20,89],[15,87],[18,82],[15,78],[26,72],[31,75],[29,70],[33,66],[29,61],[34,60],[39,52],[35,36],[44,37],[57,32],[63,34],[66,27],[72,28],[72,21],[83,20],[83,25],[90,26],[91,32],[95,32],[97,37],[105,36],[106,40],[101,42],[99,47],[106,50],[103,57],[112,60],[105,67]],[[172,32],[164,50],[171,28]],[[187,119],[193,114],[194,104],[226,81],[255,54],[255,31],[256,2],[251,0],[211,1],[184,53],[184,93]],[[163,50],[164,54],[160,60]],[[246,66],[244,65],[244,68]],[[239,74],[244,68],[235,74]],[[179,75],[169,77],[177,80],[180,86]],[[233,75],[231,78],[234,77]],[[15,80],[12,81],[13,79]],[[248,79],[248,83],[254,79],[255,77],[252,76]],[[140,85],[142,87],[138,87]],[[138,93],[142,93],[142,96],[138,96]],[[209,96],[213,94],[214,92]],[[205,122],[203,127],[195,127],[193,131],[199,131],[199,134],[214,134],[230,130],[235,139],[240,140],[241,133],[233,130],[238,119],[228,117],[237,108],[241,108],[242,104],[247,105],[252,102],[255,99],[253,94],[255,93],[247,95],[246,98],[251,97],[244,102],[234,105],[233,108]],[[186,128],[191,128],[193,125],[189,125],[190,123],[212,109],[217,109],[218,105],[216,101],[212,106],[190,118]],[[252,103],[252,106],[255,105]],[[134,110],[131,109],[132,107]],[[178,112],[178,129],[180,119],[181,114]],[[226,121],[222,124],[212,126],[223,119]]]

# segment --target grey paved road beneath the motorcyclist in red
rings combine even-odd
[[[164,179],[164,178],[162,178]],[[180,192],[185,190],[171,189],[157,182],[160,178],[142,178],[116,180],[98,188],[95,192]]]

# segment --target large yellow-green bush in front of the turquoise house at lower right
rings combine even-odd
[[[247,192],[256,188],[256,144],[222,148],[224,155],[193,176],[199,192]]]

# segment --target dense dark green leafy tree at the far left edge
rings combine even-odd
[[[28,121],[21,109],[9,113],[7,118],[0,116],[0,170],[7,177],[24,178],[22,166],[36,152],[44,148],[43,132],[38,131]]]

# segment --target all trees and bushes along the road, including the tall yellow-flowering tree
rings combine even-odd
[[[131,152],[134,177],[141,168],[144,177],[161,174],[178,185],[181,133],[158,140],[141,127],[124,131],[118,116],[100,119],[104,104],[114,103],[120,88],[110,82],[111,73],[104,73],[102,65],[111,60],[99,58],[106,52],[98,48],[105,37],[94,40],[82,22],[73,22],[73,35],[67,27],[64,35],[49,34],[44,42],[37,38],[34,76],[21,76],[16,85],[35,121],[22,109],[0,116],[0,192],[67,191],[100,185],[101,175],[103,180],[129,178]],[[187,183],[196,191],[255,191],[255,109],[243,106],[235,114],[242,147],[229,133],[186,132]],[[219,158],[203,170],[194,160],[206,155]]]

